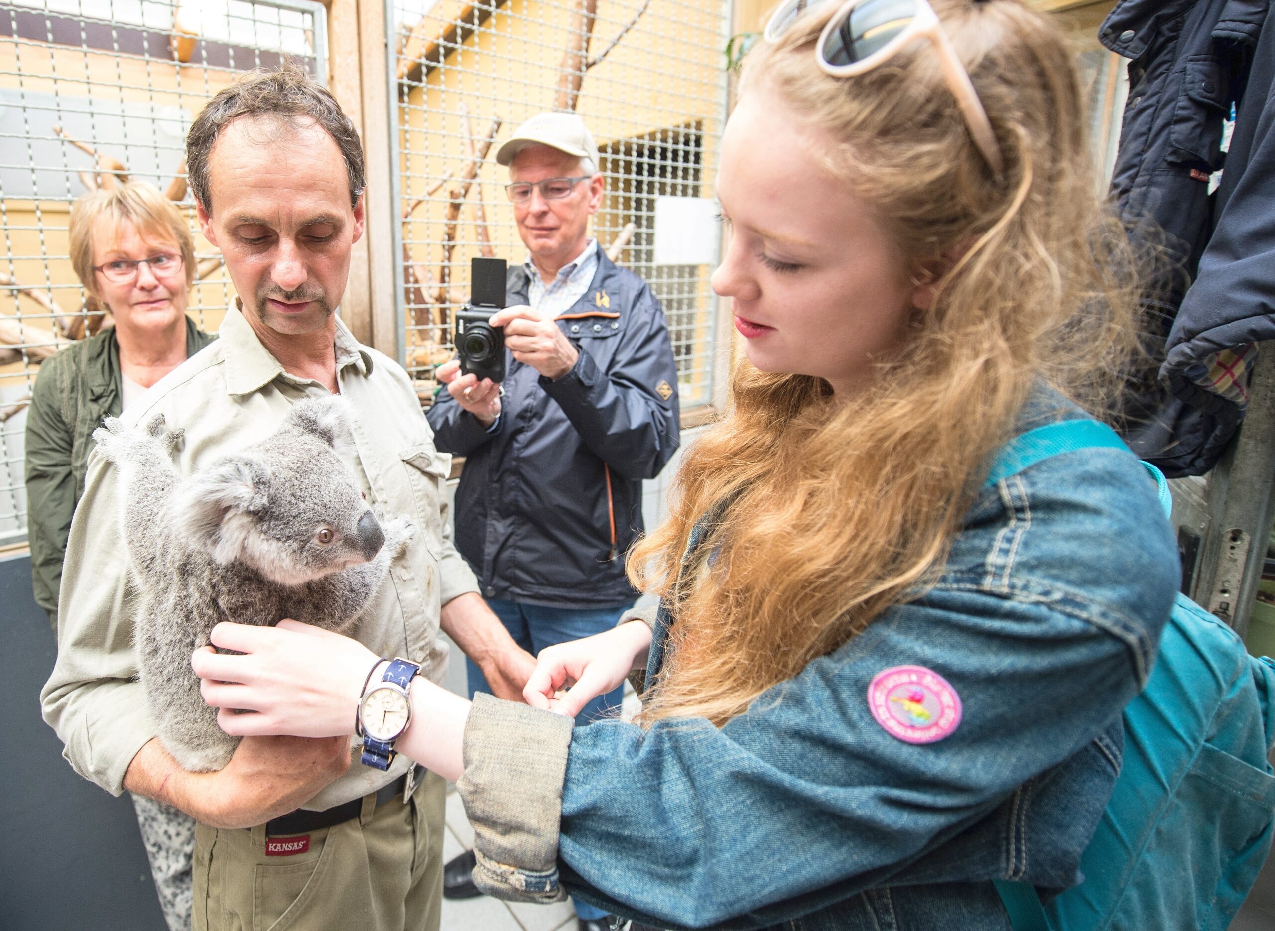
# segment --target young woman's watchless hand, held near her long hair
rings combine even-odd
[[[598,695],[618,687],[649,648],[650,627],[643,621],[550,647],[541,650],[523,698],[532,708],[574,718]]]

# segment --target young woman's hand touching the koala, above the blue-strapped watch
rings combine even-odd
[[[348,636],[286,620],[277,627],[218,624],[213,645],[191,656],[199,689],[232,736],[354,733],[363,682],[379,657]],[[236,714],[236,710],[255,714]]]

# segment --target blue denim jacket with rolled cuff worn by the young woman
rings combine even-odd
[[[477,696],[459,783],[474,877],[539,902],[565,884],[657,927],[1007,930],[991,880],[1048,897],[1081,879],[1177,579],[1137,459],[1063,454],[978,495],[933,588],[720,728],[572,729]],[[877,723],[870,684],[898,666],[959,695],[945,738]]]

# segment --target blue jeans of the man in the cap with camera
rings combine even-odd
[[[604,630],[611,630],[620,620],[620,615],[632,607],[632,602],[615,608],[592,608],[572,611],[570,608],[547,608],[539,605],[523,605],[516,601],[501,601],[488,598],[487,605],[495,612],[505,630],[514,638],[514,643],[525,649],[532,656],[539,654],[546,647],[552,647],[567,640],[579,640],[584,636],[593,636]],[[472,659],[465,658],[465,670],[469,677],[470,700],[477,691],[491,693],[482,671]],[[620,686],[606,695],[598,695],[578,715],[581,723],[589,723],[607,715],[620,713],[620,703],[623,699],[625,689]],[[595,921],[607,914],[601,908],[572,898],[575,913],[584,921]]]

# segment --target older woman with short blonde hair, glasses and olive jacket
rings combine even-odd
[[[113,326],[41,366],[27,417],[32,583],[55,629],[93,430],[214,339],[186,316],[195,246],[185,217],[158,189],[129,182],[91,191],[71,208],[69,233],[75,274]],[[158,802],[134,801],[168,926],[189,927],[194,821]]]

